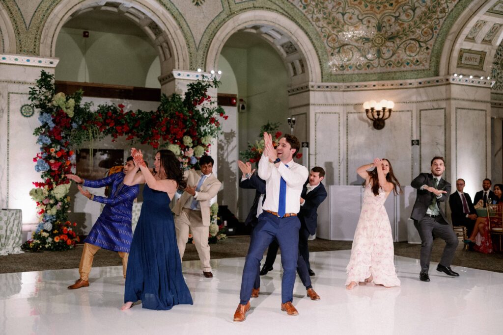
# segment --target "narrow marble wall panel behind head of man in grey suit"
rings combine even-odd
[[[419,166],[421,172],[431,170],[435,156],[446,157],[446,109],[426,108],[419,110]]]

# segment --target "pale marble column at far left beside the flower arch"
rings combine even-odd
[[[33,163],[38,111],[29,105],[29,90],[41,70],[54,73],[57,63],[57,58],[0,54],[0,206],[22,209],[24,224],[38,221],[29,192],[40,180]]]

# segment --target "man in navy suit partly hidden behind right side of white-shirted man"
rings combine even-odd
[[[323,170],[322,167],[313,167],[309,172],[309,178],[302,187],[302,193],[300,196],[299,255],[301,255],[304,259],[310,276],[314,276],[315,273],[311,270],[311,266],[309,264],[307,239],[309,238],[309,235],[314,235],[316,233],[318,206],[326,198],[325,186],[321,183],[324,177],[325,170]],[[273,264],[276,260],[278,248],[279,246],[276,242],[271,243],[269,246],[269,249],[267,250],[266,262],[260,272],[262,276],[273,270]],[[299,270],[297,270],[297,272],[299,272]],[[299,272],[299,276],[302,278],[301,272]]]

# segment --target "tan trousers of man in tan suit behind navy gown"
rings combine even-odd
[[[189,239],[189,231],[191,231],[201,261],[201,268],[205,272],[211,271],[210,246],[208,245],[210,227],[203,226],[201,211],[182,208],[180,215],[175,215],[175,228],[177,230],[177,245],[180,258],[184,258],[185,246]]]

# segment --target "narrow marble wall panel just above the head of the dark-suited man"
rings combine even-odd
[[[314,165],[325,169],[325,185],[341,184],[341,113],[320,111],[314,114]]]

